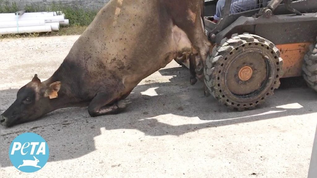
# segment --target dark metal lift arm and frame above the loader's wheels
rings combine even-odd
[[[204,19],[206,35],[212,43],[219,44],[231,34],[244,32],[260,35],[275,44],[314,42],[315,38],[312,36],[317,36],[317,0],[293,2],[296,10],[305,13],[302,16],[292,14],[284,4],[280,4],[271,17],[254,17],[261,9],[230,14],[231,2],[232,0],[226,0],[222,17],[217,24]],[[287,33],[288,36],[281,33]]]

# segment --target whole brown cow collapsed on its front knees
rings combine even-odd
[[[111,0],[46,81],[37,75],[1,115],[12,126],[59,108],[88,106],[89,114],[120,112],[144,78],[180,54],[206,60],[204,0]]]

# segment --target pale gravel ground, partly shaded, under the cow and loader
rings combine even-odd
[[[49,78],[78,37],[3,39],[0,109],[35,73]],[[262,107],[234,112],[205,98],[202,84],[191,86],[189,71],[172,61],[128,99],[133,103],[118,115],[91,118],[86,107],[66,108],[1,127],[1,177],[307,177],[317,94],[301,78],[282,80]],[[27,131],[50,149],[48,163],[30,174],[8,156],[11,141]]]

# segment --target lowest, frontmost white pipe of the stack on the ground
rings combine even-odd
[[[42,26],[30,26],[30,27],[12,27],[12,28],[1,28],[0,35],[8,35],[8,34],[19,34],[19,33],[33,33],[33,32],[51,32],[52,28],[50,25],[42,25]]]

